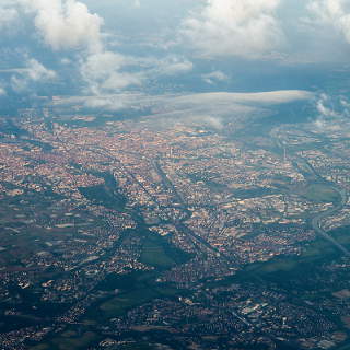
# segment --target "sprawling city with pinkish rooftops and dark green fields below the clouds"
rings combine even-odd
[[[350,128],[0,126],[1,349],[350,346]]]

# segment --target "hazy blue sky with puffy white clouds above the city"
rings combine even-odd
[[[348,74],[350,0],[0,0],[0,33],[2,101],[317,91]]]

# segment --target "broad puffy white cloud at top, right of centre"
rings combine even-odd
[[[280,0],[207,0],[183,33],[207,56],[267,56],[283,42],[276,18]]]

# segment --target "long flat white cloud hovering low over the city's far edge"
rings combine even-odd
[[[270,107],[296,101],[308,101],[314,95],[306,91],[272,91],[260,93],[198,93],[190,95],[160,96],[152,115],[168,125],[206,125],[215,129],[233,122],[235,128],[246,126],[253,119],[271,114]],[[165,122],[165,125],[166,125]]]

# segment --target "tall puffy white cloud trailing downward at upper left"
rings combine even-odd
[[[122,71],[126,57],[106,49],[101,31],[103,20],[78,0],[19,0],[34,13],[34,23],[54,50],[77,50],[79,72],[94,94],[115,92],[140,84],[140,74]],[[69,65],[68,59],[61,60]],[[38,67],[36,67],[38,69]],[[43,70],[38,70],[44,72]],[[33,72],[34,74],[34,72]],[[16,82],[19,85],[19,83]]]

